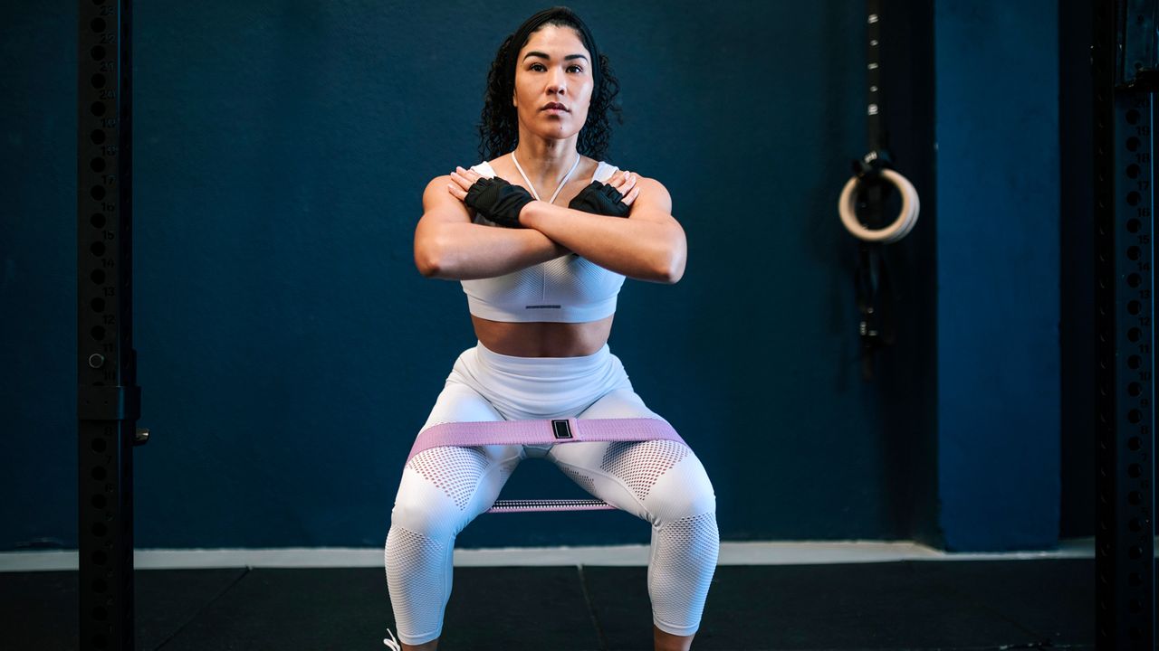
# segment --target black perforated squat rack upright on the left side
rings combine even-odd
[[[80,648],[133,651],[131,0],[80,0],[76,417]]]

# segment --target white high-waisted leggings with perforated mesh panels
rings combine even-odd
[[[455,360],[423,430],[452,422],[569,417],[661,418],[633,390],[607,344],[583,357],[531,358],[500,354],[480,343]],[[527,458],[551,460],[591,495],[651,522],[653,621],[672,635],[694,634],[720,549],[716,495],[704,466],[677,441],[583,441],[436,447],[407,463],[385,553],[399,639],[423,644],[439,637],[451,598],[454,539],[491,507]]]

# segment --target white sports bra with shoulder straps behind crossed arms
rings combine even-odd
[[[483,161],[471,169],[495,176]],[[599,161],[592,181],[606,182],[619,169]],[[475,214],[475,224],[494,222]],[[461,280],[471,314],[490,321],[583,323],[615,313],[624,276],[608,271],[576,254],[494,278]]]

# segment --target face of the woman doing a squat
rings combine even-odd
[[[519,50],[515,96],[519,124],[545,138],[570,138],[588,120],[595,80],[591,53],[569,27],[545,25]],[[562,104],[562,109],[553,108]]]

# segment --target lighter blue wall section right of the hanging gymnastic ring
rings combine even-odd
[[[934,5],[938,418],[950,549],[1059,525],[1058,5]]]

